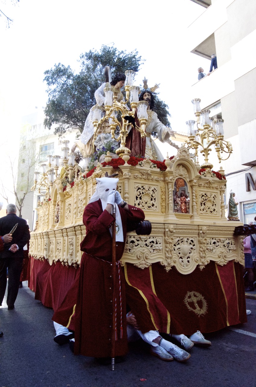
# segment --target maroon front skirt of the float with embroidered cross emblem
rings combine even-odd
[[[143,270],[126,264],[125,271],[126,300],[143,332],[156,326],[160,332],[190,335],[247,321],[240,264],[210,262],[188,275],[166,272],[160,264]]]

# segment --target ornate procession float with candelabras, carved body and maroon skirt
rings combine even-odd
[[[144,303],[143,323],[148,320],[150,329],[153,323],[166,333],[212,332],[246,322],[243,237],[234,235],[242,224],[225,217],[224,170],[214,171],[208,161],[212,148],[219,160],[232,152],[224,140],[223,120],[213,125],[210,111],[201,111],[200,99],[194,99],[196,120],[187,122],[188,140],[175,156],[164,161],[132,156],[126,147],[130,127],[140,138],[148,137],[150,114],[147,102],[138,100],[133,72],[126,73],[125,100],[118,101],[106,87],[104,106],[94,107],[92,118],[93,140],[107,124],[120,145],[115,154],[107,152],[82,172],[73,152],[68,157],[68,141],[63,141],[61,169],[68,176],[67,185],[63,187],[60,179],[60,156],[49,155],[48,171],[44,169],[41,177],[35,173],[32,189],[44,190],[45,196],[31,232],[29,287],[43,305],[58,308],[79,274],[83,212],[95,192],[96,177],[118,173],[122,198],[141,208],[152,225],[150,235],[128,233],[121,259],[130,289],[128,302],[133,302],[134,292],[142,300],[138,311],[134,306],[135,315],[142,314]],[[126,105],[129,100],[131,108]],[[191,158],[191,150],[195,156],[203,154],[203,164]],[[153,299],[158,307],[151,310]]]

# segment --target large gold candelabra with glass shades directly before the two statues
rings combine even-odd
[[[94,125],[94,139],[96,140],[99,134],[99,129],[104,122],[109,122],[111,129],[111,137],[116,141],[120,141],[120,147],[116,149],[116,154],[120,157],[126,155],[129,157],[131,153],[126,145],[126,137],[128,135],[128,126],[134,125],[135,129],[140,132],[142,137],[146,136],[145,128],[147,124],[147,107],[148,103],[145,101],[139,101],[138,93],[140,88],[133,86],[133,79],[135,72],[133,70],[127,70],[125,72],[125,92],[126,100],[118,102],[118,89],[113,92],[111,87],[105,87],[105,101],[104,108],[102,106],[94,106],[93,111],[93,125]],[[131,110],[127,107],[127,102],[130,100]],[[138,120],[140,126],[135,123],[135,111],[138,109]],[[102,112],[105,111],[105,115],[101,117]],[[118,116],[121,117],[121,121],[118,120]],[[118,133],[118,134],[116,134]]]

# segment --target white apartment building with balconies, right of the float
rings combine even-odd
[[[202,14],[188,27],[189,51],[209,59],[216,53],[218,68],[192,85],[201,109],[224,119],[224,139],[233,153],[221,163],[227,175],[226,202],[236,193],[240,220],[256,216],[256,1],[191,0]],[[196,5],[195,5],[196,7]],[[211,152],[210,161],[214,149]],[[217,158],[216,158],[217,160]],[[213,162],[217,170],[218,162]]]

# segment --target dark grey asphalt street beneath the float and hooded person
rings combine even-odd
[[[186,363],[162,361],[137,341],[111,371],[56,344],[53,310],[23,286],[14,310],[6,299],[0,307],[0,387],[256,387],[255,298],[246,299],[246,324],[205,334],[212,346],[194,346]]]

